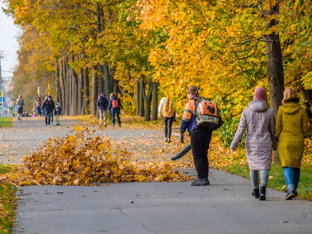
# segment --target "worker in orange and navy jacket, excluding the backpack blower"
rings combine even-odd
[[[191,85],[187,89],[189,100],[185,104],[183,118],[180,127],[180,142],[183,144],[183,134],[188,129],[191,137],[191,149],[194,159],[194,165],[197,172],[198,179],[191,183],[191,186],[205,186],[209,185],[208,172],[208,149],[211,141],[212,131],[217,130],[223,124],[221,116],[219,117],[218,125],[214,128],[206,128],[197,126],[196,117],[193,113],[196,110],[199,88]]]

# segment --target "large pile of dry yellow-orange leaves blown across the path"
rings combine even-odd
[[[108,137],[90,134],[87,126],[76,134],[49,139],[44,147],[24,158],[16,173],[2,181],[17,185],[93,185],[100,182],[187,181],[167,162],[139,162],[127,149],[112,146]]]

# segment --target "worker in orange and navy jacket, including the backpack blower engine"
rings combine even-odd
[[[191,149],[198,179],[191,186],[209,185],[208,149],[212,131],[223,124],[218,106],[210,99],[198,95],[199,88],[191,85],[187,89],[189,100],[186,102],[180,127],[180,142],[188,130],[191,137]]]

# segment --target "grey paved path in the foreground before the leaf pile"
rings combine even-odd
[[[14,233],[311,233],[311,202],[285,201],[285,193],[269,188],[267,200],[259,201],[241,176],[211,170],[209,178],[211,185],[199,187],[189,182],[22,187]]]

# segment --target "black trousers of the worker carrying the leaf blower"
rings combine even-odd
[[[197,127],[191,132],[191,148],[197,176],[199,179],[208,177],[208,149],[211,141],[212,129]]]

